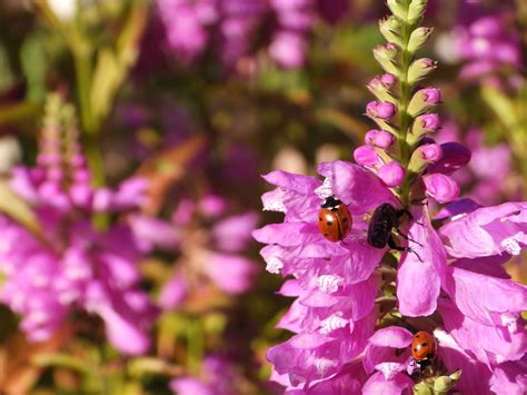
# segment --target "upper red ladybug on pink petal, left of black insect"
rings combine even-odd
[[[318,229],[329,241],[342,240],[351,228],[352,219],[348,207],[335,196],[326,198],[318,213]]]

